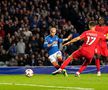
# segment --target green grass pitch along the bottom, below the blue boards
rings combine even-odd
[[[96,74],[81,74],[75,77],[69,74],[0,75],[0,90],[108,90],[108,74],[98,77]]]

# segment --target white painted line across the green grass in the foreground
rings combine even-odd
[[[46,88],[55,88],[55,89],[71,89],[71,90],[94,90],[94,88],[48,86],[48,85],[21,84],[21,83],[0,83],[0,85],[33,86],[33,87],[46,87]]]

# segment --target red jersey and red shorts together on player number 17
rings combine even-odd
[[[80,49],[75,51],[72,55],[73,58],[85,57],[87,60],[91,60],[94,56],[94,51],[102,39],[105,40],[105,36],[97,31],[88,30],[80,35],[81,39],[84,39],[84,43]]]

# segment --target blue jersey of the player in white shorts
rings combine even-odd
[[[57,43],[48,47],[48,44],[52,44],[54,41],[56,41]],[[63,42],[63,39],[60,39],[57,35],[55,35],[54,37],[52,37],[51,35],[48,35],[45,37],[44,48],[47,48],[48,54],[52,55],[56,53],[57,51],[59,51],[58,44],[61,42]]]

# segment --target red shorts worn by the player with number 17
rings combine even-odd
[[[91,62],[93,56],[94,56],[94,53],[90,53],[90,52],[84,51],[82,49],[78,49],[78,50],[76,50],[75,52],[72,53],[72,57],[74,59],[85,57],[86,60],[89,60],[90,62]]]

